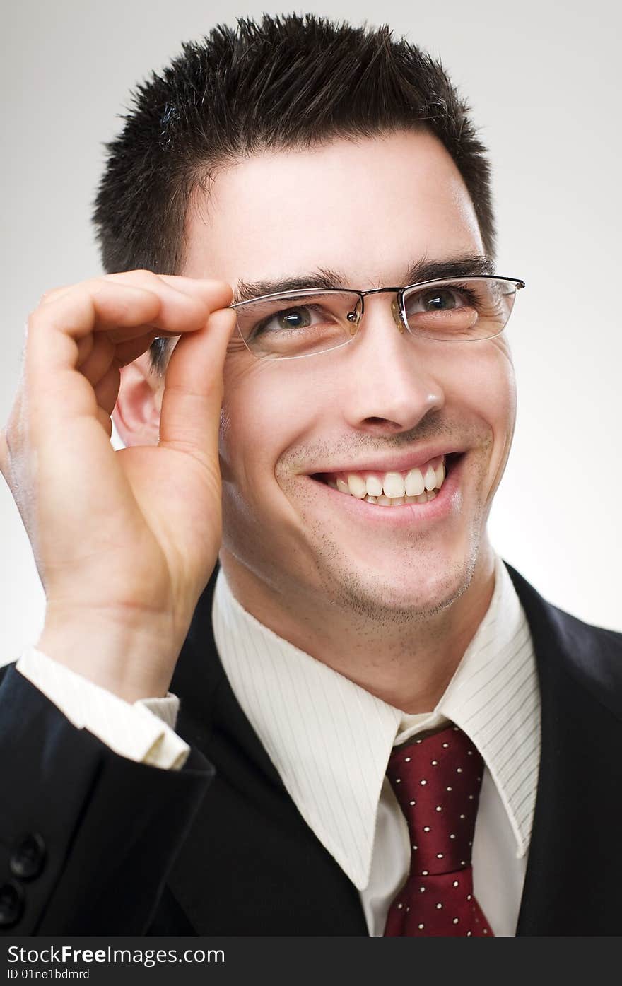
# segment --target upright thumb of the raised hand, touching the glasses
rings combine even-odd
[[[218,309],[204,328],[179,337],[167,373],[160,413],[160,445],[211,458],[218,444],[223,366],[236,313]]]

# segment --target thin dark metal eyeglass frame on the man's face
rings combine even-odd
[[[416,336],[417,332],[412,331],[407,321],[406,308],[404,305],[405,293],[407,291],[412,290],[413,288],[425,288],[426,285],[428,284],[431,285],[447,284],[447,283],[453,283],[455,281],[458,282],[459,281],[510,281],[511,284],[514,284],[516,286],[515,297],[517,291],[520,291],[521,288],[525,287],[524,281],[518,277],[504,277],[502,274],[464,274],[463,276],[454,275],[452,277],[434,277],[426,281],[416,281],[414,284],[406,284],[404,285],[404,287],[369,288],[367,291],[361,291],[357,288],[300,288],[300,289],[291,289],[289,291],[275,291],[269,295],[257,295],[256,298],[247,298],[243,302],[235,302],[232,305],[230,305],[229,308],[239,309],[239,308],[243,308],[245,305],[254,305],[256,302],[269,301],[271,298],[301,298],[301,297],[307,298],[310,296],[312,297],[314,295],[326,295],[326,294],[358,295],[361,302],[360,311],[358,312],[358,314],[356,311],[349,312],[348,315],[346,316],[348,321],[356,325],[356,330],[352,332],[350,338],[346,339],[345,342],[339,343],[338,346],[331,346],[329,349],[321,349],[317,353],[301,353],[299,356],[279,356],[279,357],[257,356],[256,353],[253,353],[252,349],[250,349],[246,340],[244,339],[240,325],[237,326],[238,332],[240,334],[244,346],[246,347],[250,355],[253,356],[255,359],[262,360],[262,359],[273,358],[273,359],[281,359],[281,360],[300,360],[300,359],[304,359],[306,356],[321,356],[322,353],[329,353],[333,349],[341,349],[343,348],[343,346],[347,346],[349,342],[352,342],[352,340],[358,334],[359,326],[361,324],[361,321],[363,320],[363,316],[365,315],[365,299],[368,297],[368,295],[380,295],[380,294],[387,294],[394,292],[396,297],[391,302],[391,313],[396,328],[400,332],[406,331],[409,333],[409,335]],[[512,315],[512,312],[510,313],[510,315]],[[508,320],[509,318],[510,317],[508,317]],[[506,325],[508,324],[508,320],[504,324],[504,327],[501,329],[501,331],[496,332],[495,335],[487,335],[480,339],[478,338],[443,339],[440,341],[485,342],[486,339],[494,339],[498,335],[501,335],[501,333],[505,330]],[[432,336],[425,336],[425,338],[432,338]]]

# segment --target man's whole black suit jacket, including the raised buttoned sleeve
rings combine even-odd
[[[542,705],[518,935],[620,935],[622,634],[563,612],[508,569]],[[173,677],[177,732],[191,745],[181,771],[115,755],[6,669],[0,901],[13,923],[0,931],[367,935],[356,887],[299,814],[220,664],[216,574]]]

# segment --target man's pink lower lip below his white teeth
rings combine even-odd
[[[457,514],[461,505],[460,479],[462,475],[462,465],[465,455],[454,459],[449,473],[446,475],[443,486],[434,500],[427,503],[404,503],[399,507],[382,507],[375,503],[366,503],[365,500],[358,500],[355,496],[341,493],[327,483],[322,483],[318,479],[312,479],[315,486],[321,487],[330,497],[330,502],[352,515],[359,522],[366,524],[390,524],[397,527],[412,527],[414,524],[428,524],[432,521],[440,521],[449,516]]]

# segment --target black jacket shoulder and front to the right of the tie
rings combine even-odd
[[[507,567],[531,631],[542,709],[517,934],[620,935],[620,638],[546,602]]]

